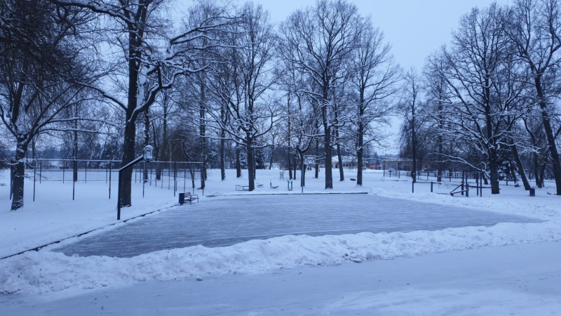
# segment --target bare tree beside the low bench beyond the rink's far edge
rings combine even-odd
[[[222,125],[223,115],[215,123],[228,138],[245,146],[248,161],[249,190],[255,190],[255,148],[264,147],[259,139],[268,133],[275,120],[273,104],[264,93],[276,80],[271,72],[275,37],[269,13],[262,6],[246,3],[239,13],[242,20],[233,26],[231,45],[224,48],[226,60],[215,67],[209,82],[219,105],[227,105],[229,124]],[[221,109],[222,110],[222,109]],[[268,121],[265,124],[264,121]]]

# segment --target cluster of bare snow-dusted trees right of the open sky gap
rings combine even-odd
[[[561,195],[560,5],[554,0],[491,4],[462,16],[450,44],[405,74],[403,150]],[[422,91],[422,92],[421,92]]]

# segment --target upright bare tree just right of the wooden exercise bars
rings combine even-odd
[[[503,9],[492,4],[464,15],[453,34],[452,49],[442,48],[446,67],[433,68],[454,96],[442,133],[461,138],[485,154],[492,194],[499,194],[499,147],[509,145],[513,124],[522,114],[522,80],[517,59],[508,53],[502,14]]]

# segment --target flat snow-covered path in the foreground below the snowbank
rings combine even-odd
[[[561,242],[0,296],[0,315],[557,315]]]

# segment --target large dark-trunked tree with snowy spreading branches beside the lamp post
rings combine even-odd
[[[168,37],[167,33],[171,31],[166,26],[170,23],[160,14],[166,0],[50,1],[96,13],[108,23],[116,25],[108,28],[107,32],[113,37],[110,42],[118,43],[124,53],[125,60],[119,63],[126,65],[123,67],[126,75],[123,82],[119,80],[123,78],[122,74],[111,78],[117,78],[114,85],[124,87],[126,95],[121,96],[121,91],[113,95],[101,86],[95,88],[103,98],[111,100],[125,112],[123,165],[135,159],[137,118],[149,113],[147,109],[156,102],[158,93],[171,88],[177,77],[208,67],[210,62],[203,65],[194,62],[204,58],[201,52],[206,48],[198,46],[197,40],[207,37],[208,46],[215,46],[216,39],[211,34],[231,23],[231,18],[222,11],[220,15],[202,20],[196,27],[187,27],[177,36]],[[131,205],[132,175],[132,169],[123,172],[121,206]]]

